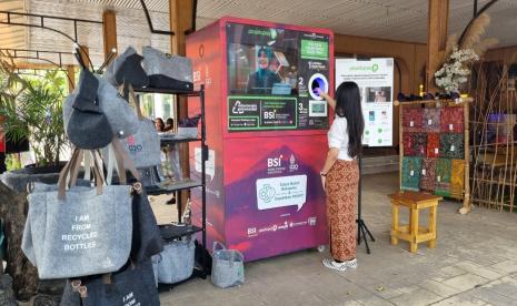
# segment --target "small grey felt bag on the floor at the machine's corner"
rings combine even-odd
[[[213,242],[212,284],[221,288],[242,285],[245,283],[243,262],[242,253],[237,249],[227,249],[221,243]]]

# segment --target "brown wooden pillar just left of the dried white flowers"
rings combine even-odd
[[[447,42],[449,0],[429,0],[427,23],[427,91],[436,92],[435,72],[439,69],[438,54],[444,52]]]

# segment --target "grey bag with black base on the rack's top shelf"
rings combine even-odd
[[[149,76],[149,86],[191,91],[192,62],[188,58],[162,53],[151,47],[142,48],[143,70]]]

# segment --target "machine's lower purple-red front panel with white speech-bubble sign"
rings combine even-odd
[[[226,241],[246,261],[328,242],[319,175],[326,141],[324,135],[227,140]]]

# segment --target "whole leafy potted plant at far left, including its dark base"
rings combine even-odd
[[[1,53],[1,52],[0,52]],[[38,279],[33,267],[21,251],[27,212],[27,183],[56,183],[62,163],[59,155],[68,142],[64,135],[62,105],[68,92],[66,76],[60,71],[33,75],[14,72],[12,62],[0,54],[0,119],[6,137],[17,142],[28,140],[34,164],[11,170],[0,176],[0,216],[6,225],[9,247],[6,253],[6,272],[12,277],[18,299],[27,300],[43,287],[51,290],[54,284]],[[63,282],[59,283],[62,287]],[[48,289],[50,292],[50,289]],[[0,303],[1,304],[1,303]]]

